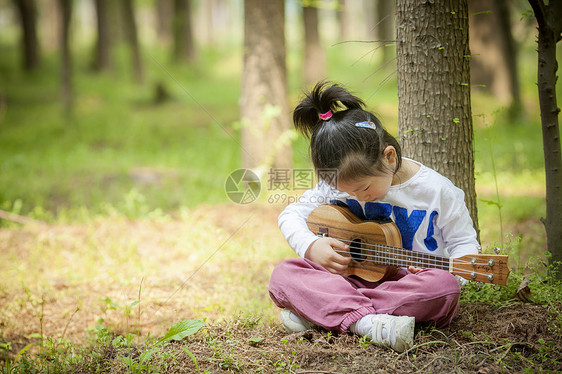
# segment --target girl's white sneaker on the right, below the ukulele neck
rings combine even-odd
[[[375,314],[372,317],[371,341],[404,352],[414,345],[415,318]]]

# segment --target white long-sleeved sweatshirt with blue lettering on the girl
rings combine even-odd
[[[288,205],[279,215],[279,228],[300,257],[304,257],[308,247],[318,239],[306,225],[308,215],[317,206],[330,203],[343,203],[362,219],[392,219],[406,249],[461,257],[476,254],[480,248],[464,202],[464,192],[424,165],[412,178],[391,186],[388,193],[375,202],[358,201],[326,182],[306,191],[299,201]]]

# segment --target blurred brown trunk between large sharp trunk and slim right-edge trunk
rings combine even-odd
[[[505,0],[469,2],[471,83],[496,96],[515,115],[521,106],[517,51]]]

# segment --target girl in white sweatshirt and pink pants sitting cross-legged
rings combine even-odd
[[[433,255],[475,254],[479,244],[463,191],[402,158],[396,139],[364,106],[342,87],[321,82],[296,107],[295,128],[310,138],[315,169],[337,172],[325,173],[279,216],[279,228],[300,258],[276,266],[269,293],[285,308],[281,320],[288,332],[314,324],[403,352],[413,345],[415,321],[438,328],[451,322],[458,310],[457,279],[444,270],[414,267],[383,282],[342,276],[351,258],[336,251],[349,247],[312,233],[306,225],[310,212],[336,203],[363,219],[392,219],[404,248]]]

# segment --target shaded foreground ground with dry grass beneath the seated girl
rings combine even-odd
[[[174,359],[165,368],[160,366],[160,372],[558,373],[562,336],[552,322],[559,312],[526,304],[463,305],[445,329],[417,326],[415,347],[402,354],[357,336],[319,330],[287,335],[279,324],[235,319],[168,345],[165,351]],[[141,351],[133,352],[133,357]],[[102,372],[127,372],[116,359],[123,353],[111,347],[99,353],[97,361],[85,362],[73,372],[92,372],[96,362],[103,362]]]

